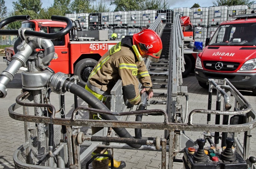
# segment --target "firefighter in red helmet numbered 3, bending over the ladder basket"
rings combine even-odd
[[[106,101],[117,80],[122,79],[123,95],[133,105],[137,105],[142,92],[148,92],[148,99],[153,96],[151,78],[143,58],[158,62],[162,51],[162,41],[159,35],[150,29],[143,30],[133,36],[125,36],[104,54],[91,72],[85,89],[99,100]],[[139,92],[139,82],[142,90]],[[89,105],[90,106],[90,105]],[[96,113],[89,112],[90,119]],[[102,127],[92,127],[92,134]],[[106,148],[97,148],[92,155],[108,154]],[[107,169],[110,166],[108,157],[97,157],[93,160],[94,169]],[[122,169],[124,161],[114,160],[114,168]]]

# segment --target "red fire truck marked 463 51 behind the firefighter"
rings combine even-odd
[[[47,19],[37,19],[22,22],[22,27],[31,28],[33,31],[55,33],[65,28],[66,23]],[[78,31],[82,32],[83,30]],[[97,40],[99,39],[97,37],[99,37],[99,34],[102,34],[102,32],[106,38]],[[53,45],[55,46],[55,56],[50,62],[49,67],[55,72],[60,71],[66,74],[77,75],[80,80],[78,84],[81,86],[85,86],[97,61],[108,51],[108,49],[118,42],[108,41],[108,30],[90,30],[90,34],[94,34],[96,38],[85,37],[86,35],[83,32],[80,33],[80,35],[84,36],[75,38],[74,41],[70,40],[72,37],[71,34],[66,34],[58,39],[52,39]],[[6,48],[5,50],[6,56],[4,57],[4,61],[9,64],[11,57],[14,55],[14,50],[13,48]]]

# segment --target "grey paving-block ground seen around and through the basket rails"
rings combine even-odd
[[[0,72],[2,72],[6,68],[5,63],[0,62]],[[208,91],[203,89],[197,83],[197,80],[194,74],[190,74],[187,78],[183,79],[183,86],[188,87],[189,94],[189,106],[188,112],[193,109],[207,109],[207,101],[208,101]],[[8,95],[1,99],[0,101],[0,169],[1,168],[14,168],[13,164],[13,153],[17,148],[25,142],[24,138],[24,123],[23,121],[16,121],[9,117],[8,108],[11,104],[15,103],[15,98],[20,94],[22,89],[21,83],[21,70],[17,72],[15,78],[12,82],[10,82],[7,86]],[[251,103],[254,110],[256,110],[256,97],[252,94],[252,92],[241,91],[242,95],[245,96],[246,99]],[[216,97],[216,91],[213,91],[213,103],[214,97]],[[52,93],[50,96],[51,103],[55,107],[59,107],[58,95]],[[66,101],[66,114],[67,117],[70,117],[70,113],[73,110],[73,95],[70,93],[65,94]],[[233,100],[233,97],[231,97]],[[185,98],[182,97],[180,99],[180,103],[185,105]],[[78,105],[87,105],[84,101],[78,98]],[[212,105],[214,108],[215,106]],[[163,109],[165,110],[165,105],[151,105],[148,106],[148,109]],[[184,107],[183,107],[184,109]],[[33,112],[30,111],[30,112]],[[80,112],[81,118],[88,118],[87,112]],[[130,121],[134,121],[135,117],[131,116]],[[143,116],[142,121],[155,121],[155,122],[163,122],[163,117],[159,116]],[[212,118],[214,122],[214,118]],[[194,123],[204,123],[206,124],[206,115],[196,114],[194,117]],[[134,135],[133,129],[127,129],[132,135]],[[82,131],[91,133],[90,127],[84,127]],[[251,144],[250,144],[250,155],[256,156],[256,135],[255,129],[251,132]],[[186,132],[186,135],[190,137],[192,140],[196,140],[197,138],[203,138],[202,132]],[[143,137],[163,137],[164,132],[161,130],[142,130]],[[242,135],[242,133],[241,133]],[[241,136],[241,140],[243,135]],[[168,153],[167,153],[168,154]],[[124,150],[124,149],[115,149],[114,150],[114,158],[117,160],[123,160],[126,162],[126,168],[134,168],[134,169],[154,169],[161,168],[161,152],[154,151],[139,151],[139,150]],[[181,159],[182,154],[178,154],[177,158]],[[83,166],[83,168],[85,168]],[[174,164],[174,168],[182,168],[182,163]]]

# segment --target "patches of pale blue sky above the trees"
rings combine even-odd
[[[16,0],[5,0],[5,6],[7,7],[7,12],[13,9],[12,2]],[[73,1],[73,0],[71,0]],[[164,1],[164,0],[162,0]],[[195,3],[198,3],[200,7],[210,7],[213,6],[212,0],[166,0],[169,2],[170,9],[179,8],[179,7],[192,7]],[[106,0],[106,3],[108,4]],[[53,0],[42,0],[42,7],[47,8],[53,4]]]

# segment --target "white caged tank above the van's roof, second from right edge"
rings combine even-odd
[[[251,10],[248,9],[248,5],[233,5],[228,7],[228,20],[232,21],[235,20],[235,18],[230,17],[234,15],[241,15],[241,14],[249,14],[251,13]]]

